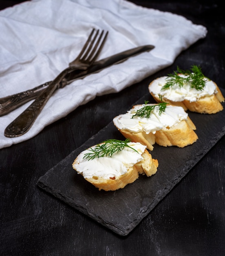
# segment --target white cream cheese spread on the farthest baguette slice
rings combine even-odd
[[[185,77],[185,75],[181,76]],[[161,90],[167,82],[167,77],[168,76],[162,76],[158,79],[155,79],[151,83],[149,91],[152,92],[154,95],[160,94],[162,95],[162,98],[166,98],[170,101],[183,101],[186,99],[190,102],[197,101],[201,97],[211,96],[212,94],[217,92],[216,85],[213,83],[213,81],[208,79],[203,90],[196,90],[195,88],[191,88],[190,83],[185,83],[181,88],[179,87],[179,85],[173,85],[170,88]]]

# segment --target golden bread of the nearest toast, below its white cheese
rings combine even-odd
[[[128,171],[123,175],[109,179],[92,177],[85,178],[85,180],[93,184],[99,190],[115,191],[117,189],[123,189],[127,184],[137,180],[139,174],[146,174],[149,177],[157,172],[157,168],[159,166],[158,160],[152,159],[152,155],[146,149],[144,150],[142,156],[143,160],[129,168]],[[74,169],[75,164],[77,164],[77,158],[73,162]]]

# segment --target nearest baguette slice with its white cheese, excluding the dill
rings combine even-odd
[[[151,154],[146,150],[146,146],[132,142],[129,145],[135,148],[138,153],[135,150],[124,148],[122,150],[124,152],[115,153],[112,157],[99,157],[88,161],[88,159],[83,158],[88,149],[84,150],[74,160],[73,168],[79,174],[83,175],[85,180],[99,190],[102,189],[105,191],[123,189],[127,184],[137,180],[139,174],[146,174],[148,177],[155,174],[159,163],[157,159],[152,159]],[[98,164],[100,166],[99,168],[102,168],[100,172],[95,169]],[[112,169],[112,166],[115,168],[122,166],[123,171],[121,174],[118,174],[118,170],[108,171]],[[107,174],[105,175],[105,173]]]

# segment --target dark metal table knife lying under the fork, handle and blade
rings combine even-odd
[[[135,47],[124,52],[115,54],[113,56],[109,56],[107,58],[96,61],[88,70],[72,71],[71,73],[66,75],[66,77],[60,83],[58,88],[63,88],[64,86],[72,83],[77,79],[82,79],[89,74],[97,73],[111,65],[122,63],[131,56],[135,56],[142,52],[149,52],[153,48],[153,45],[143,45]],[[38,95],[40,95],[43,92],[43,90],[45,90],[49,86],[50,83],[51,81],[43,83],[42,85],[39,85],[30,90],[0,98],[0,116],[6,115],[12,110],[22,106],[24,103],[31,101],[32,99],[35,99],[36,97],[38,97]]]

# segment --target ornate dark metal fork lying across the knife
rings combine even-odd
[[[44,92],[42,92],[35,99],[35,101],[33,101],[33,103],[31,103],[31,105],[26,108],[26,110],[24,110],[24,112],[22,112],[14,121],[11,122],[11,124],[7,126],[4,131],[4,135],[6,137],[18,137],[26,133],[35,122],[36,118],[44,108],[46,102],[49,100],[53,92],[59,87],[60,82],[63,82],[65,76],[74,70],[87,70],[94,63],[102,47],[104,46],[108,31],[103,37],[103,30],[98,39],[97,36],[99,34],[99,29],[93,36],[94,32],[95,29],[92,29],[77,58],[69,63],[68,67],[60,72],[60,74],[58,74],[58,76],[53,81],[51,81]]]

